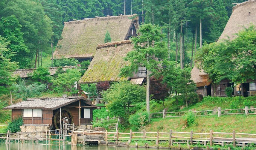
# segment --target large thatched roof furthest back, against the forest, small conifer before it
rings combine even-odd
[[[64,23],[62,39],[59,40],[53,58],[88,58],[93,57],[98,43],[104,43],[105,34],[110,33],[111,40],[120,41],[128,37],[131,26],[137,29],[138,17],[120,15],[98,17]],[[134,19],[131,19],[135,17]]]

